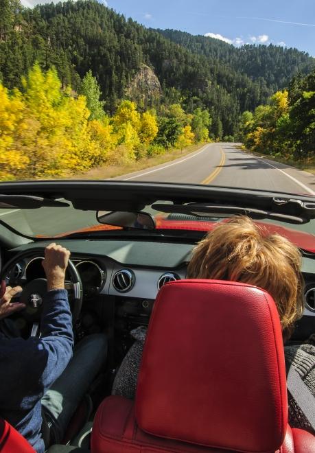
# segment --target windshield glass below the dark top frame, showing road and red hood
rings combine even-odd
[[[97,211],[74,209],[69,200],[59,199],[67,202],[67,207],[41,207],[38,209],[1,209],[0,221],[18,231],[19,233],[34,239],[45,237],[75,237],[75,235],[99,237],[106,235],[108,231],[121,230],[121,227],[113,224],[101,223],[97,220]],[[154,208],[158,206],[158,209]],[[224,222],[228,216],[222,214],[213,216],[207,213],[178,213],[168,209],[170,205],[165,201],[158,201],[154,205],[147,205],[142,212],[150,214],[154,219],[156,231],[167,231],[167,234],[176,235],[176,231],[189,232],[199,231],[200,234],[211,231],[215,224]],[[163,205],[167,212],[163,212]],[[171,211],[171,212],[170,212]],[[106,211],[100,211],[102,215]],[[137,217],[137,216],[136,216]],[[100,217],[102,221],[102,216]],[[264,226],[270,233],[280,233],[285,235],[300,248],[308,251],[315,251],[315,220],[310,220],[305,224],[292,224],[264,218],[256,220],[258,224]],[[141,224],[139,216],[134,225],[127,225],[128,231],[143,231],[145,226]],[[152,230],[151,230],[152,231]],[[192,236],[193,237],[193,236]]]

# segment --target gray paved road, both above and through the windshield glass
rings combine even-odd
[[[315,176],[312,174],[250,155],[234,143],[210,143],[183,158],[115,179],[202,183],[315,195]],[[69,209],[60,208],[1,209],[0,220],[27,235],[54,235],[96,223],[93,211],[73,209],[72,215]],[[307,226],[310,224],[303,228],[307,229]]]

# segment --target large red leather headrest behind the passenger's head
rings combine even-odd
[[[182,280],[154,303],[139,373],[136,417],[156,436],[270,452],[287,426],[277,307],[242,283]]]

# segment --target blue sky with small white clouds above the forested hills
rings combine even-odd
[[[22,3],[50,1],[22,0]],[[315,56],[315,0],[103,0],[103,3],[148,27],[209,34],[234,45],[286,45]]]

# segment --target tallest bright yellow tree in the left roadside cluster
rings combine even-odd
[[[43,73],[38,65],[23,79],[23,87],[25,121],[32,126],[23,137],[30,176],[65,176],[94,165],[100,149],[91,140],[86,98],[74,99],[70,89],[62,90],[55,69]]]

